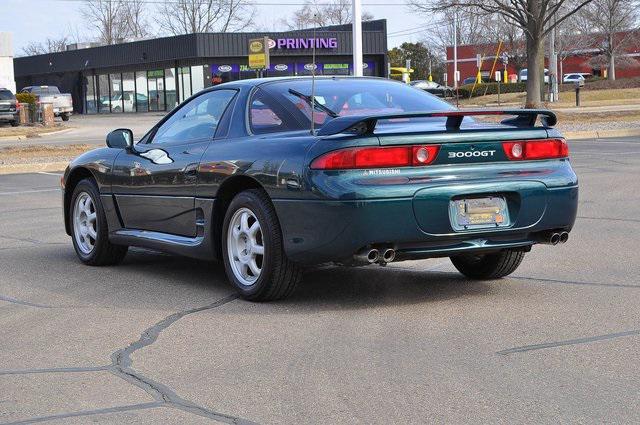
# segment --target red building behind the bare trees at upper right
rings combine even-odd
[[[633,40],[630,40],[633,36]],[[591,36],[589,42],[579,40],[568,40],[567,48],[558,52],[558,76],[561,78],[565,74],[573,72],[585,72],[593,75],[603,75],[606,64],[602,58],[598,45],[602,44],[602,37]],[[616,78],[640,77],[640,36],[633,33],[618,33],[616,38],[624,39],[623,51],[621,55],[624,60],[617,58]],[[584,39],[583,39],[584,40]],[[502,71],[505,66],[502,64],[501,55],[505,53],[510,57],[507,65],[507,72],[510,76],[516,76],[520,69],[526,68],[526,57],[524,46],[513,46],[503,43],[498,52],[498,44],[469,44],[458,46],[458,71],[460,71],[460,83],[465,78],[475,77],[478,73],[478,58],[480,57],[480,73],[483,78],[493,80],[494,75],[491,70]],[[496,60],[496,54],[498,58]],[[495,62],[495,67],[494,67]],[[548,58],[545,57],[545,67],[548,67]],[[453,46],[447,47],[447,84],[453,86]],[[513,77],[512,77],[513,78]]]

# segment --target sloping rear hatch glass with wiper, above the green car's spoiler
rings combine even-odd
[[[286,109],[302,112],[311,121],[311,80],[283,80],[261,86]],[[407,84],[377,79],[317,79],[314,122],[322,125],[338,116],[379,115],[402,112],[449,111],[455,108]],[[268,99],[265,99],[268,100]],[[272,108],[274,109],[274,108]],[[281,117],[281,119],[284,117]],[[412,119],[424,120],[424,119]]]

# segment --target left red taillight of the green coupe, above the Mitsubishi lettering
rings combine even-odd
[[[314,159],[314,170],[412,167],[431,164],[438,155],[438,145],[347,148]]]

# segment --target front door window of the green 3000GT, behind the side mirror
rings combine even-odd
[[[151,143],[188,143],[213,138],[235,94],[235,90],[216,90],[192,99],[158,128]]]

